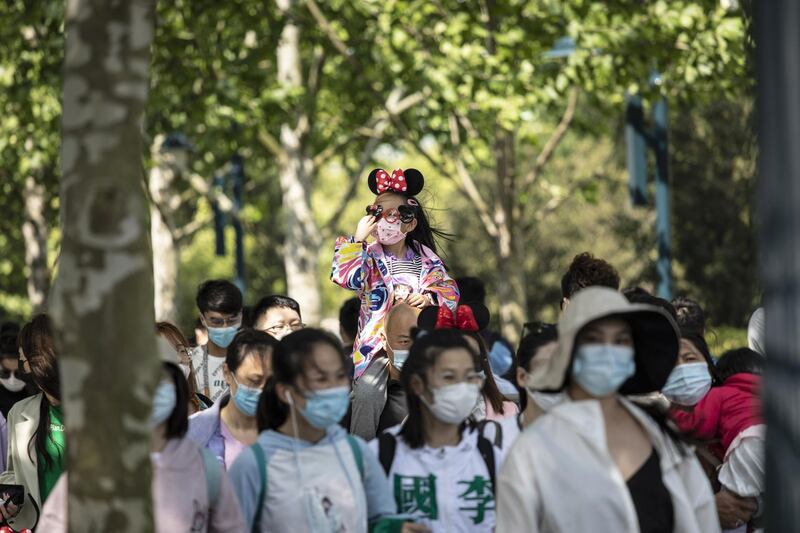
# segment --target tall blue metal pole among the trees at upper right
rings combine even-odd
[[[670,221],[667,99],[653,106],[653,142],[656,153],[656,238],[658,241],[658,296],[672,299],[672,226]]]

